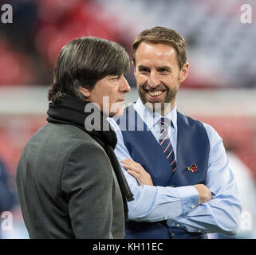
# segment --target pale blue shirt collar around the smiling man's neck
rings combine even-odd
[[[155,112],[153,113],[152,111],[148,110],[140,100],[140,97],[138,100],[136,100],[136,103],[134,104],[134,109],[136,112],[138,112],[140,118],[144,121],[145,124],[147,124],[148,128],[153,128],[153,126],[160,120],[162,117],[160,113]],[[177,128],[177,106],[175,103],[174,108],[167,114],[168,119],[171,120],[173,124],[173,128]]]

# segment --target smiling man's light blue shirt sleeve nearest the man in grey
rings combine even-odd
[[[119,161],[132,159],[124,146],[120,128],[114,120],[108,120],[115,129],[118,138],[115,149],[117,158]],[[128,217],[132,221],[158,222],[168,218],[175,218],[194,210],[199,203],[199,193],[194,186],[175,188],[171,186],[151,186],[150,181],[148,181],[148,185],[140,186],[136,178],[130,175],[123,166],[122,170],[135,198],[134,201],[128,202]]]

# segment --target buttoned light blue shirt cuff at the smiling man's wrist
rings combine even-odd
[[[187,214],[187,212],[196,208],[199,204],[199,193],[195,186],[179,186],[175,189],[179,192],[183,214]]]

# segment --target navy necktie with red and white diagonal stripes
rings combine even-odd
[[[172,168],[172,171],[176,170],[176,161],[175,161],[175,155],[173,148],[171,146],[171,140],[168,138],[168,126],[171,124],[171,121],[167,118],[161,118],[160,120],[160,147],[163,150],[164,155],[166,155],[166,158],[168,162],[170,163],[170,166]]]

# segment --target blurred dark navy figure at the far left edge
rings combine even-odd
[[[8,172],[0,160],[0,213],[14,206],[14,192],[8,186]]]

